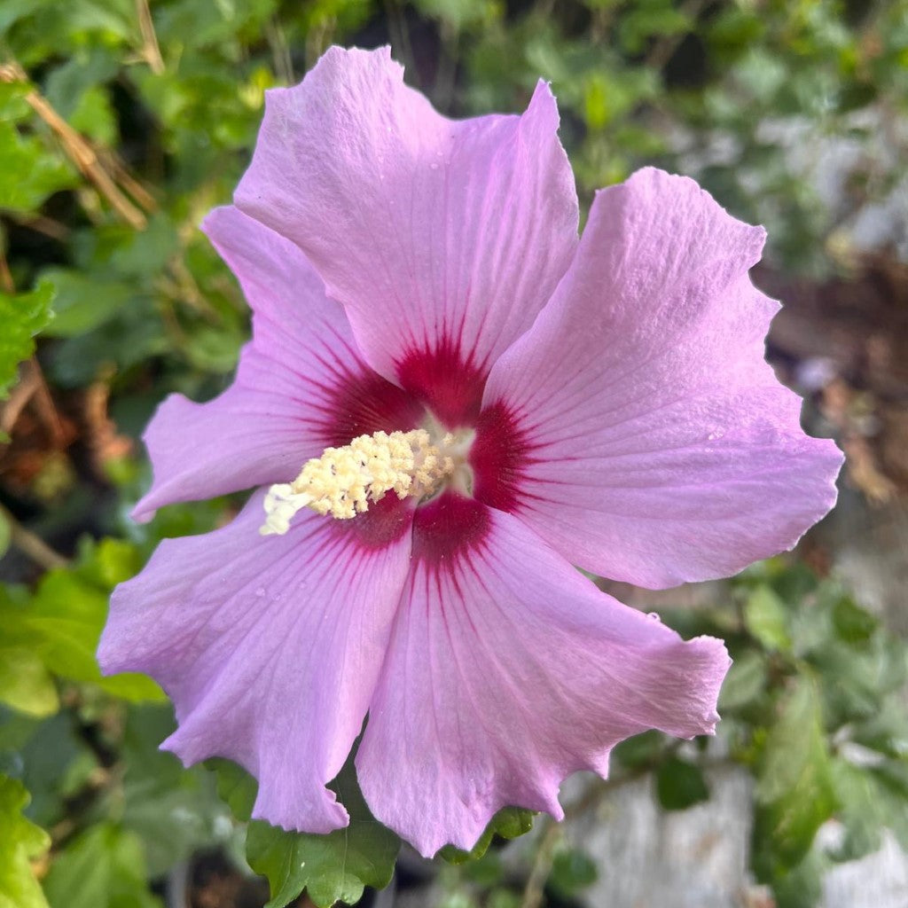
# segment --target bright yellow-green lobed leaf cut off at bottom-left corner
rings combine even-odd
[[[47,908],[30,862],[51,839],[22,815],[28,800],[21,782],[0,775],[0,908]]]

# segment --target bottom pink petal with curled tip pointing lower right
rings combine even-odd
[[[472,500],[458,505],[475,511],[469,539],[445,557],[433,541],[445,519],[431,508],[417,512],[416,560],[357,755],[381,822],[427,856],[470,848],[504,805],[560,817],[561,781],[605,775],[628,735],[712,733],[730,664],[721,641],[683,642],[518,518]]]

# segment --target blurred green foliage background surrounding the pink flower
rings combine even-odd
[[[230,200],[264,91],[299,81],[331,43],[390,43],[410,84],[454,116],[519,111],[546,78],[584,206],[655,163],[766,225],[769,286],[834,295],[884,274],[896,290],[880,299],[905,300],[905,0],[4,0],[0,908],[262,905],[250,865],[272,905],[355,902],[390,879],[399,843],[355,779],[338,780],[360,811],[350,834],[247,832],[252,780],[157,751],[173,722],[162,692],[94,662],[114,585],[161,538],[236,508],[173,506],[133,524],[149,480],[136,439],[169,392],[205,400],[230,380],[248,311],[198,223]],[[871,250],[883,258],[868,264]],[[880,305],[873,337],[904,325]],[[875,435],[908,382],[881,391],[877,373],[892,385],[905,360],[893,347],[889,366],[859,356],[846,369],[824,324],[771,350],[810,392],[810,424],[844,445],[855,494],[897,498],[903,461]],[[667,623],[729,641],[720,734],[622,745],[613,780],[590,783],[569,816],[641,779],[662,810],[685,811],[709,803],[716,767],[743,767],[749,878],[765,898],[747,904],[781,908],[817,904],[824,873],[875,851],[883,830],[908,848],[904,624],[872,614],[860,585],[823,578],[834,555],[814,543],[711,587],[705,604],[664,600]],[[504,812],[476,854],[433,864],[404,850],[396,890],[366,897],[585,903],[609,872],[601,855],[545,821],[501,847],[530,824]]]

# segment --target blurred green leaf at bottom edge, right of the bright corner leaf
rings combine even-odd
[[[148,889],[142,843],[112,823],[68,844],[44,881],[51,908],[163,908]]]

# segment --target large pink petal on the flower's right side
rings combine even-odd
[[[479,498],[644,587],[793,546],[833,506],[842,455],[804,435],[765,362],[777,304],[746,274],[763,241],[686,178],[599,192],[571,270],[492,370]]]

